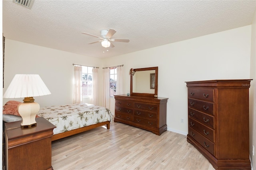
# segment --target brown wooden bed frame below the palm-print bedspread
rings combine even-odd
[[[93,129],[93,128],[96,128],[96,127],[101,127],[103,125],[107,125],[107,129],[110,129],[110,121],[101,122],[101,123],[97,123],[97,124],[94,124],[94,125],[89,125],[89,126],[86,126],[86,127],[77,128],[77,129],[74,129],[74,130],[69,130],[69,131],[66,131],[66,132],[54,134],[52,136],[52,141],[58,140],[58,139],[61,139],[61,138],[65,138],[65,137],[68,137],[68,136],[71,136],[71,135],[74,135],[74,134],[78,134],[78,133],[81,133],[81,132],[85,132],[86,130],[90,130],[90,129]]]

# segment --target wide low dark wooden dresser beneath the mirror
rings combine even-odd
[[[168,98],[115,95],[114,122],[149,130],[157,135],[167,130]]]

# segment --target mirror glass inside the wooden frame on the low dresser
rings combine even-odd
[[[133,93],[155,93],[154,80],[150,81],[150,75],[155,73],[155,70],[136,71],[133,76],[132,92]],[[150,88],[152,87],[152,88]]]

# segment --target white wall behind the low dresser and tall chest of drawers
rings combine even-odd
[[[251,26],[227,30],[105,59],[124,64],[124,93],[130,93],[130,68],[158,66],[158,97],[168,97],[167,128],[187,134],[185,81],[250,78]],[[126,74],[127,73],[127,74]],[[114,108],[114,99],[111,100]],[[184,123],[180,123],[183,118]]]

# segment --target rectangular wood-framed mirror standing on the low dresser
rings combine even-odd
[[[157,97],[158,67],[130,69],[130,95]]]

